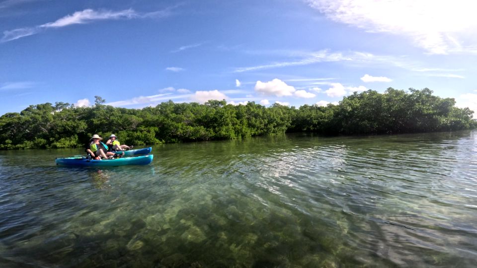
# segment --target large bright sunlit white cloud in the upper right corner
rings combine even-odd
[[[308,0],[308,2],[310,6],[334,21],[354,25],[368,32],[404,36],[432,54],[470,50],[474,44],[463,47],[461,43],[477,34],[475,1]]]

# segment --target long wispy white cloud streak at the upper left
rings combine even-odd
[[[132,18],[145,18],[156,16],[166,16],[170,14],[169,9],[149,12],[138,13],[133,9],[125,9],[120,11],[111,10],[93,10],[84,9],[82,11],[74,12],[71,15],[66,15],[53,22],[36,25],[33,27],[18,28],[13,30],[7,30],[3,32],[3,37],[0,39],[0,43],[16,40],[25,36],[34,35],[51,28],[60,28],[73,24],[85,24],[97,20],[112,20],[112,19],[132,19]]]

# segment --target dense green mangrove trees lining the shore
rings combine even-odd
[[[173,103],[142,109],[104,105],[95,96],[92,107],[56,102],[30,105],[0,117],[0,149],[82,147],[92,134],[116,134],[131,145],[234,139],[295,132],[323,135],[406,134],[474,129],[469,108],[455,107],[453,98],[432,95],[424,88],[388,88],[343,97],[338,105],[273,104],[225,100],[205,104]]]

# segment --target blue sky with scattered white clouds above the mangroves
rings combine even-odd
[[[0,0],[0,115],[68,102],[299,107],[429,88],[477,112],[469,0]],[[477,114],[476,116],[477,117]]]

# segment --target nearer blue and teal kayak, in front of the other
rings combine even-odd
[[[58,166],[71,167],[117,167],[126,165],[148,165],[153,161],[153,155],[141,155],[126,158],[92,160],[83,157],[57,158],[55,163]]]

